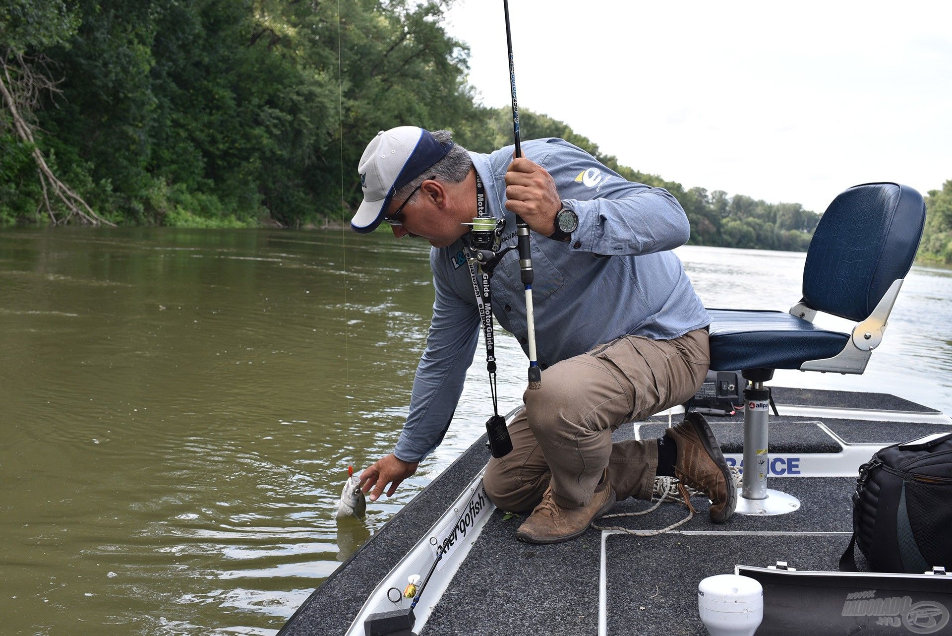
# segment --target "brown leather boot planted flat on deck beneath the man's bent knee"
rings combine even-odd
[[[605,471],[607,472],[607,471]],[[558,544],[581,535],[593,520],[615,505],[615,491],[608,485],[607,474],[595,488],[595,494],[583,507],[561,507],[552,497],[552,487],[545,489],[542,502],[516,530],[516,537],[529,544]]]

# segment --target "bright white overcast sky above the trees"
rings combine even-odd
[[[522,109],[619,161],[822,212],[843,189],[952,179],[952,2],[510,0]],[[446,27],[509,104],[501,0]]]

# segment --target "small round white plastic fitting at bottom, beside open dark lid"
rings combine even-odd
[[[698,611],[710,636],[753,636],[764,620],[764,587],[749,576],[709,576],[698,585]]]

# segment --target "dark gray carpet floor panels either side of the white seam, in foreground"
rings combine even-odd
[[[803,506],[799,510],[775,517],[735,515],[723,525],[712,524],[707,518],[708,503],[695,497],[691,501],[698,514],[678,530],[846,532],[852,525],[850,496],[855,484],[856,480],[848,477],[774,480],[772,487],[800,498]],[[628,499],[612,512],[647,507],[644,501]],[[602,523],[656,529],[683,519],[686,513],[687,508],[682,505],[665,503],[648,515],[605,519]],[[517,517],[503,521],[501,512],[493,514],[421,636],[503,633],[515,628],[525,636],[597,633],[601,532],[589,529],[576,541],[530,546],[515,537],[520,523]],[[835,569],[836,561],[849,542],[848,535],[834,535],[823,541],[823,550],[818,551],[818,542],[803,534],[793,537],[612,535],[607,552],[608,633],[703,634],[703,631],[690,630],[693,627],[678,631],[680,627],[676,626],[678,616],[696,619],[697,585],[701,579],[733,572],[737,564],[770,566],[778,560],[795,567],[802,563],[802,569]],[[651,606],[650,611],[639,609],[645,606],[645,598],[650,595],[645,590],[650,587],[654,593],[656,584],[668,590],[664,592],[665,598],[680,594],[693,600],[686,606],[659,602]],[[649,616],[652,618],[648,619]],[[643,618],[647,621],[644,624],[640,622]],[[616,627],[628,625],[627,631],[613,631],[612,620],[617,621]]]

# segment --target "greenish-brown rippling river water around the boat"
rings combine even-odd
[[[342,230],[0,232],[0,631],[274,634],[483,432],[480,348],[443,446],[366,522],[332,518],[347,465],[386,454],[407,412],[427,251]],[[800,298],[801,253],[678,253],[707,307]],[[497,355],[508,410],[526,362],[507,334]],[[913,269],[863,376],[775,384],[952,412],[952,271]]]

